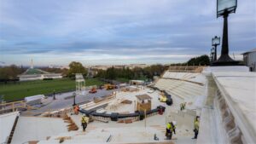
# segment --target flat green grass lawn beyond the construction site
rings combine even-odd
[[[85,79],[86,86],[100,85],[103,82],[96,78]],[[50,94],[75,89],[75,81],[69,78],[54,80],[36,80],[19,82],[17,84],[0,84],[0,95],[4,95],[4,101],[20,100],[26,96]]]

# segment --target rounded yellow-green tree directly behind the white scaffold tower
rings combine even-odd
[[[67,77],[74,78],[76,73],[82,73],[84,77],[87,75],[87,71],[80,62],[73,61],[69,64],[69,70]]]

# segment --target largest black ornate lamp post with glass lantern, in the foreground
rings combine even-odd
[[[221,55],[213,66],[235,66],[238,61],[232,60],[229,55],[229,37],[228,37],[228,16],[236,12],[237,0],[217,0],[217,18],[224,17],[223,37]]]

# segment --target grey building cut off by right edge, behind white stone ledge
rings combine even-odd
[[[242,55],[244,64],[250,68],[251,72],[256,72],[256,48],[251,49]]]

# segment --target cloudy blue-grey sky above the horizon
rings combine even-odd
[[[216,0],[0,0],[0,64],[184,62],[222,31]],[[229,42],[236,59],[256,48],[255,0],[238,0]]]

